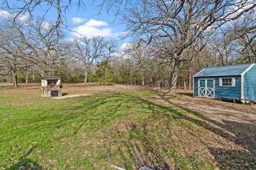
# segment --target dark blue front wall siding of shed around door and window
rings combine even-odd
[[[241,77],[240,76],[225,76],[225,77],[200,77],[194,78],[194,96],[198,96],[198,79],[215,79],[215,99],[222,97],[241,98]],[[235,87],[219,86],[219,78],[235,78]]]

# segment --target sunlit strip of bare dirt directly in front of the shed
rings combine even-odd
[[[178,91],[178,95],[174,98],[162,98],[162,100],[165,103],[202,113],[221,124],[228,121],[252,124],[256,122],[256,109],[245,104],[239,105],[214,99],[196,98],[183,91]]]

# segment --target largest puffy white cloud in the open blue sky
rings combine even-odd
[[[73,35],[76,37],[116,37],[118,33],[115,33],[113,29],[106,27],[108,25],[107,22],[97,21],[97,20],[89,20],[84,25],[80,25],[75,28],[73,31]]]

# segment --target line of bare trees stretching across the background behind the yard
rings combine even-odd
[[[107,5],[122,9],[115,12],[126,25],[125,37],[132,39],[123,49],[117,48],[118,41],[102,37],[67,41],[62,27],[44,18],[2,18],[0,74],[12,77],[15,87],[19,74],[25,82],[29,77],[35,81],[35,75],[60,75],[67,82],[85,84],[155,86],[167,80],[173,94],[178,86],[190,90],[193,75],[204,67],[255,62],[254,1],[141,0]]]

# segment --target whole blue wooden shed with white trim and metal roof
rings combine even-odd
[[[256,65],[209,67],[194,75],[194,97],[256,100]]]

